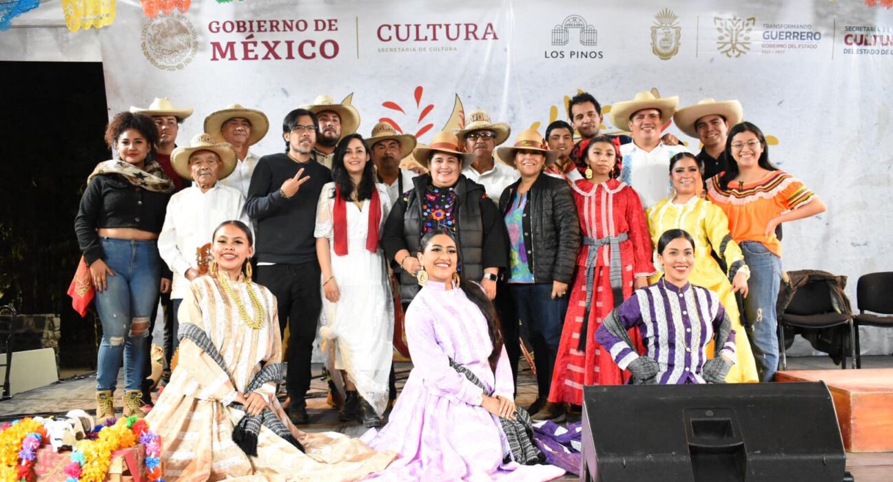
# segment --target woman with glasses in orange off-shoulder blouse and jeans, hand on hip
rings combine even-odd
[[[707,183],[707,194],[729,218],[731,237],[741,246],[750,268],[744,319],[761,381],[778,369],[778,320],[775,302],[781,282],[781,242],[775,228],[827,209],[799,179],[769,161],[763,131],[741,122],[729,131],[729,170]]]

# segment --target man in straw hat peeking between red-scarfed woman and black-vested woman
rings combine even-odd
[[[388,187],[388,197],[394,205],[400,195],[413,188],[413,178],[418,176],[413,170],[400,168],[400,160],[413,154],[415,136],[398,134],[388,122],[379,122],[372,128],[371,137],[366,138],[366,144],[378,181]]]

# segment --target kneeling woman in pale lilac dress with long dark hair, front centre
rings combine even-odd
[[[456,272],[461,249],[450,229],[421,237],[422,285],[406,311],[413,371],[388,425],[363,439],[400,453],[380,472],[392,480],[551,480],[563,470],[537,463],[541,455],[523,432],[529,422],[514,406],[514,383],[499,320],[474,280]],[[512,450],[508,441],[517,442]],[[522,454],[519,454],[519,451]],[[530,456],[530,458],[525,457]]]

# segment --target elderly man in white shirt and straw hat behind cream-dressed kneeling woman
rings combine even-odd
[[[211,243],[214,229],[223,221],[241,220],[250,226],[245,195],[220,182],[236,169],[236,151],[230,144],[199,134],[188,147],[174,149],[171,164],[192,186],[171,196],[158,236],[158,252],[173,271],[173,326],[164,334],[173,337],[171,353],[165,353],[169,363],[177,351],[179,303],[189,294],[189,283],[200,276],[197,250]]]

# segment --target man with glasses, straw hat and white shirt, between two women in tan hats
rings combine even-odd
[[[504,162],[496,162],[493,151],[505,142],[512,129],[505,122],[493,123],[484,111],[472,111],[465,118],[465,129],[456,131],[459,142],[464,143],[465,152],[473,154],[471,165],[462,173],[466,178],[482,185],[487,196],[499,204],[499,196],[521,174]]]

